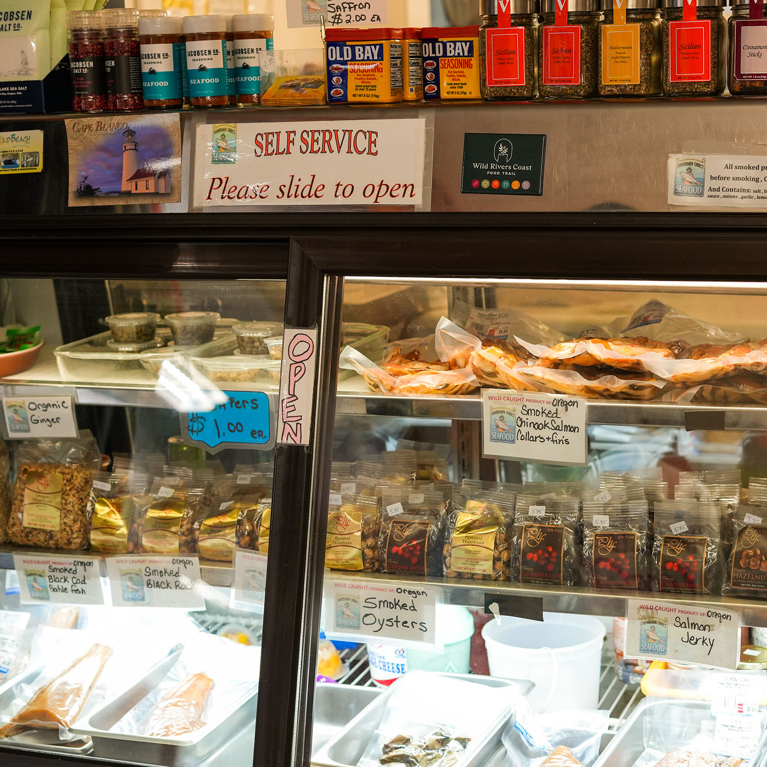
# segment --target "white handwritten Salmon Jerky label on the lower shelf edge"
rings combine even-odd
[[[629,599],[626,617],[627,658],[738,667],[740,616],[735,611]]]

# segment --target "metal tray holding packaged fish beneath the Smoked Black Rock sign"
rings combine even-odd
[[[72,727],[72,732],[91,736],[94,756],[123,761],[126,754],[129,754],[131,762],[149,762],[168,767],[195,767],[255,720],[257,686],[240,698],[233,711],[184,736],[159,738],[112,732],[111,728],[165,679],[179,659],[180,653],[179,649],[163,658],[129,690],[107,700],[87,719],[77,721],[76,726]]]

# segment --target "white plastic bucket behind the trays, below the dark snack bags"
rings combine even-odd
[[[543,623],[501,617],[482,627],[491,676],[528,679],[534,713],[595,709],[606,632],[588,615],[544,613]]]

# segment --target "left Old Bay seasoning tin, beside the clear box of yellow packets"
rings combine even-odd
[[[326,30],[328,104],[401,101],[401,37],[401,29]]]

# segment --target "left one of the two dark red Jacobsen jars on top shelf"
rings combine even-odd
[[[72,71],[72,110],[100,112],[107,106],[102,16],[95,11],[69,11],[67,29],[69,65]]]

